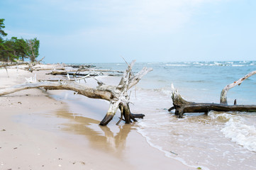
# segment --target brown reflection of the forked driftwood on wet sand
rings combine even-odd
[[[75,113],[70,113],[67,109],[61,109],[55,112],[58,118],[64,118],[65,123],[61,123],[61,130],[76,135],[83,135],[89,141],[89,145],[96,149],[121,156],[121,152],[126,146],[126,138],[130,130],[135,130],[134,125],[115,125],[108,128],[100,126],[99,120],[85,118]],[[132,128],[133,127],[133,128]]]

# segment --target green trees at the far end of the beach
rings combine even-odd
[[[0,62],[16,62],[17,60],[35,62],[39,55],[40,42],[37,38],[26,40],[12,37],[4,39],[4,18],[0,18]]]

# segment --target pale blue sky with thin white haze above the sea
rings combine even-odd
[[[1,0],[46,63],[256,60],[255,0]]]

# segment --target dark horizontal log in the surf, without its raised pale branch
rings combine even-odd
[[[255,105],[233,105],[228,106],[226,104],[217,103],[194,103],[191,101],[185,101],[182,96],[174,89],[172,85],[172,102],[173,107],[168,111],[175,109],[175,115],[178,118],[182,118],[184,113],[208,113],[209,111],[256,111]]]

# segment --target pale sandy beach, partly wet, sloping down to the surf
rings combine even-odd
[[[47,71],[0,69],[0,88]],[[48,71],[49,72],[49,71]],[[136,124],[99,126],[106,101],[30,89],[0,96],[0,169],[191,169],[150,147]],[[82,115],[85,113],[87,117]]]

